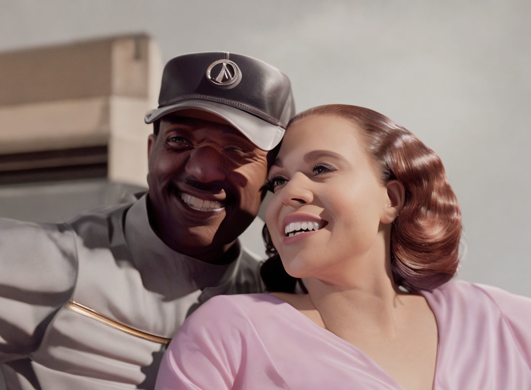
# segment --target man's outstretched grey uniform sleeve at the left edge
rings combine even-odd
[[[66,224],[0,219],[0,362],[35,351],[77,273]]]

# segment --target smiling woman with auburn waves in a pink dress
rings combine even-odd
[[[268,185],[277,292],[199,308],[156,389],[531,388],[531,299],[448,282],[461,214],[413,134],[361,107],[304,111]]]

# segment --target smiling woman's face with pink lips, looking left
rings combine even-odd
[[[353,261],[385,255],[389,197],[358,131],[344,118],[320,115],[286,132],[269,171],[274,196],[265,222],[292,276],[333,281]]]

